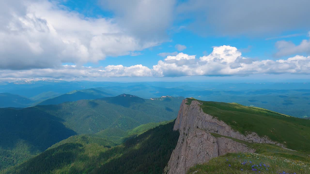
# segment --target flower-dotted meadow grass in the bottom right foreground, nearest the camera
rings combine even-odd
[[[257,171],[252,171],[252,165],[254,164],[258,165],[258,167],[253,167]],[[266,170],[266,168],[268,170]],[[254,174],[255,172],[260,172],[261,174],[276,174],[282,172],[309,174],[310,163],[309,159],[307,159],[307,161],[302,161],[290,159],[281,155],[270,156],[257,153],[237,153],[213,158],[207,163],[191,167],[187,173],[193,174],[194,172],[196,174]]]

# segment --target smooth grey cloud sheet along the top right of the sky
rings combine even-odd
[[[252,35],[308,30],[310,1],[188,0],[177,7],[179,18],[202,35]]]

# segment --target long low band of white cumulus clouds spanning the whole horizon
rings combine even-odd
[[[65,65],[57,68],[30,70],[0,70],[1,79],[52,78],[87,79],[102,77],[175,77],[175,76],[246,76],[250,74],[310,74],[310,56],[296,55],[288,59],[255,60],[243,57],[236,47],[214,47],[211,54],[196,55],[179,53],[158,61],[152,69],[143,65],[125,67],[79,67]]]

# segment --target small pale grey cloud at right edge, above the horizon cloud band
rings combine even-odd
[[[309,36],[310,37],[310,36]],[[295,45],[290,41],[277,41],[276,42],[277,57],[287,56],[292,54],[310,53],[310,39],[303,40],[299,45]]]

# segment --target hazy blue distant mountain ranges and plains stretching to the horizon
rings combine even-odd
[[[0,107],[29,107],[59,104],[80,99],[117,96],[122,93],[141,98],[194,97],[201,100],[237,102],[263,107],[295,117],[309,117],[309,83],[219,83],[219,82],[91,82],[91,81],[18,81],[2,82],[0,92],[11,93]],[[23,98],[22,103],[14,95]],[[23,97],[22,97],[23,96]],[[15,97],[16,98],[16,97]],[[15,100],[15,101],[14,101]],[[8,103],[11,103],[8,105]],[[272,103],[272,104],[270,104]]]

